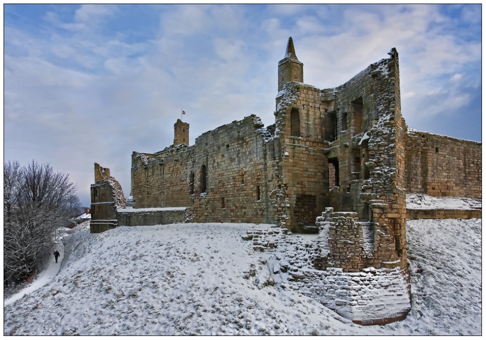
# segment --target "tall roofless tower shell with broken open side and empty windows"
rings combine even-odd
[[[358,220],[374,223],[375,249],[365,262],[381,267],[396,261],[405,268],[405,122],[398,54],[394,49],[389,54],[336,88],[286,83],[277,97],[276,130],[284,153],[287,228],[305,229],[296,214],[303,205],[314,214],[326,207],[354,211]]]

